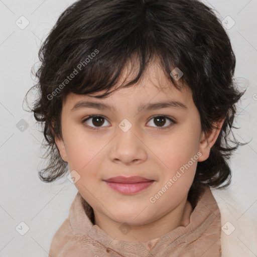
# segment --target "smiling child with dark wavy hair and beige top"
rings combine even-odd
[[[33,111],[49,157],[40,178],[70,173],[78,189],[49,256],[257,254],[214,190],[229,185],[227,160],[242,145],[228,136],[243,92],[212,10],[80,0],[39,56]]]

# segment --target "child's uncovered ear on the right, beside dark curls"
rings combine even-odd
[[[198,158],[198,162],[203,162],[209,158],[210,150],[219,136],[223,123],[224,118],[220,121],[215,122],[215,128],[212,129],[209,133],[201,134],[199,151],[202,153],[202,155]]]

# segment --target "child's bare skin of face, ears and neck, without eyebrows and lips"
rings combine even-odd
[[[130,76],[124,71],[122,78],[126,80]],[[209,157],[224,120],[216,124],[217,129],[203,134],[191,90],[188,87],[177,90],[157,63],[149,66],[146,75],[135,86],[119,89],[104,99],[92,97],[99,93],[102,92],[90,96],[70,93],[67,96],[61,113],[63,138],[55,140],[69,170],[80,175],[75,186],[92,206],[95,224],[115,240],[126,241],[151,240],[178,226],[186,226],[192,212],[187,196],[197,161]],[[188,108],[138,112],[142,103],[170,99],[180,101]],[[81,100],[114,105],[116,111],[93,108],[72,111]],[[93,118],[84,122],[88,127],[83,125],[83,120],[92,114],[105,118],[97,130],[90,129],[90,126],[97,128]],[[152,117],[157,114],[171,117],[176,123],[164,119],[158,126]],[[132,124],[127,132],[118,126],[124,118]],[[201,153],[198,160],[159,199],[150,202],[150,197],[155,196],[198,152]],[[103,181],[119,175],[142,176],[155,182],[134,195],[125,195]],[[131,228],[127,234],[119,230],[123,222]]]

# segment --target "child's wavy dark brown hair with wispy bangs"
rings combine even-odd
[[[95,97],[107,97],[134,57],[139,64],[136,76],[122,87],[135,85],[157,57],[179,90],[170,72],[176,67],[183,72],[179,81],[192,90],[204,133],[225,118],[209,158],[198,162],[192,188],[228,185],[227,161],[244,145],[231,131],[235,104],[244,92],[237,90],[233,80],[235,56],[228,35],[213,10],[196,0],[80,0],[60,15],[40,48],[41,66],[32,87],[38,90],[38,98],[31,110],[43,126],[48,159],[39,171],[40,179],[51,182],[68,171],[52,133],[62,138],[65,97],[70,92],[101,90],[106,92]],[[72,73],[75,76],[68,79]]]

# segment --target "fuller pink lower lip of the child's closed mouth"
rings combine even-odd
[[[104,181],[104,182],[115,191],[122,194],[130,195],[130,194],[138,193],[143,189],[150,187],[154,183],[154,180],[133,183],[133,184],[114,183],[114,182],[108,182],[108,181]]]

